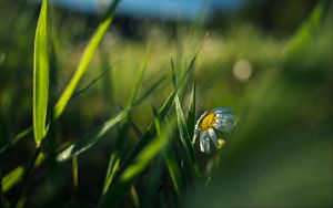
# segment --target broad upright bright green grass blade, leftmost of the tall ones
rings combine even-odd
[[[33,135],[39,146],[46,135],[49,98],[48,0],[43,0],[34,37]]]

